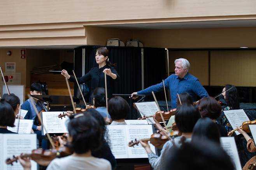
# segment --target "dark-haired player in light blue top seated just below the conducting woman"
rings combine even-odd
[[[105,88],[95,88],[91,97],[93,98],[93,106],[96,108],[96,111],[98,111],[103,118],[107,118],[107,114],[110,118],[106,108]]]

